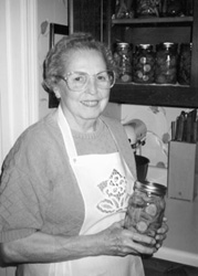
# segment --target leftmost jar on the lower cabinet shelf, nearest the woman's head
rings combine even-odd
[[[114,60],[117,66],[118,81],[132,82],[132,45],[126,42],[116,43]]]

